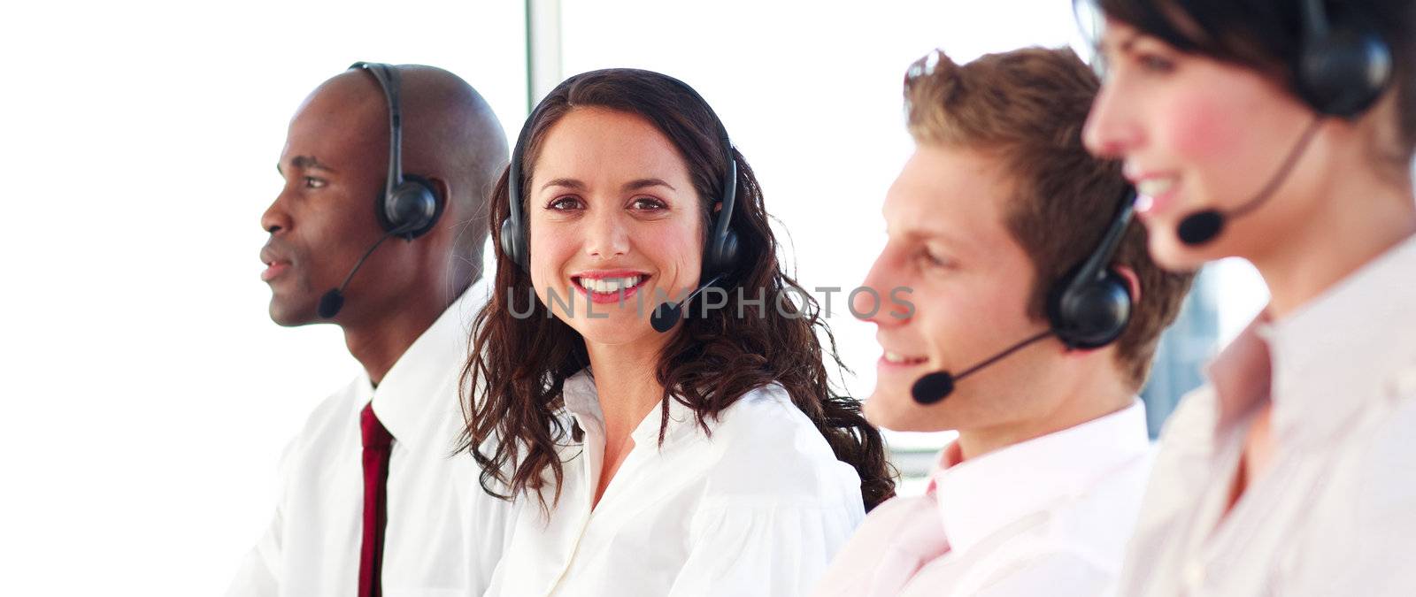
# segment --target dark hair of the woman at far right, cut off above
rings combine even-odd
[[[1249,66],[1293,86],[1303,47],[1298,0],[1073,0],[1082,3],[1181,52]],[[1416,153],[1416,3],[1345,0],[1328,1],[1327,8],[1330,21],[1369,28],[1391,47],[1400,147],[1378,150],[1405,174]]]

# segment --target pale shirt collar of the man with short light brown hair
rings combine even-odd
[[[1147,456],[1146,407],[1126,409],[1079,426],[959,461],[957,441],[940,454],[930,492],[954,552],[966,552],[990,535],[1080,497],[1099,480]]]

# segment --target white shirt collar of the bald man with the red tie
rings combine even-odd
[[[416,444],[436,433],[450,413],[460,416],[460,400],[449,399],[443,386],[466,362],[472,321],[486,304],[486,293],[480,280],[467,287],[404,351],[377,389],[368,373],[360,373],[358,383],[372,392],[374,415],[398,441]]]

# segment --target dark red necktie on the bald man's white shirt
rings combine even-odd
[[[388,522],[388,453],[394,436],[384,429],[370,402],[360,413],[364,431],[364,543],[358,555],[358,596],[379,597],[384,566],[384,523]]]

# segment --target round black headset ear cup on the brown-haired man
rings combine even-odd
[[[1131,289],[1126,279],[1109,269],[1100,280],[1072,291],[1066,290],[1069,286],[1059,283],[1048,300],[1048,317],[1058,338],[1083,349],[1114,342],[1131,320]]]

